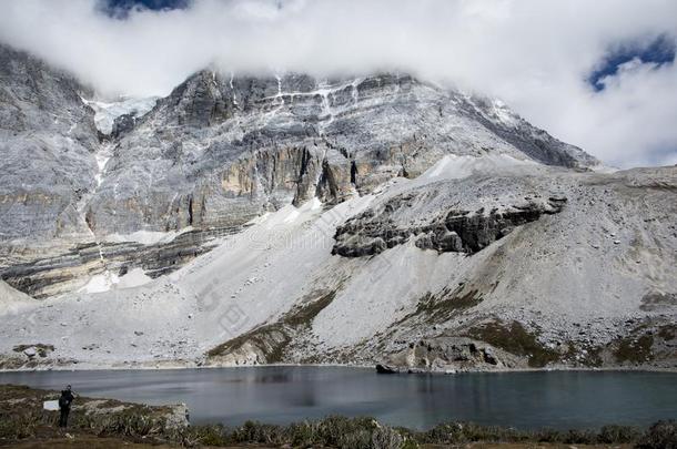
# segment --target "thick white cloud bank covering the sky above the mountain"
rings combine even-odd
[[[94,0],[0,2],[0,41],[104,93],[166,94],[195,70],[411,71],[505,100],[607,163],[677,160],[677,69],[629,64],[594,92],[618,42],[677,35],[673,0],[195,0],[98,12]]]

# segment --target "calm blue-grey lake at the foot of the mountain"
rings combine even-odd
[[[3,373],[0,384],[127,401],[188,404],[193,424],[287,424],[372,416],[430,428],[448,420],[524,429],[647,426],[677,418],[677,374],[553,371],[377,375],[340,367]]]

